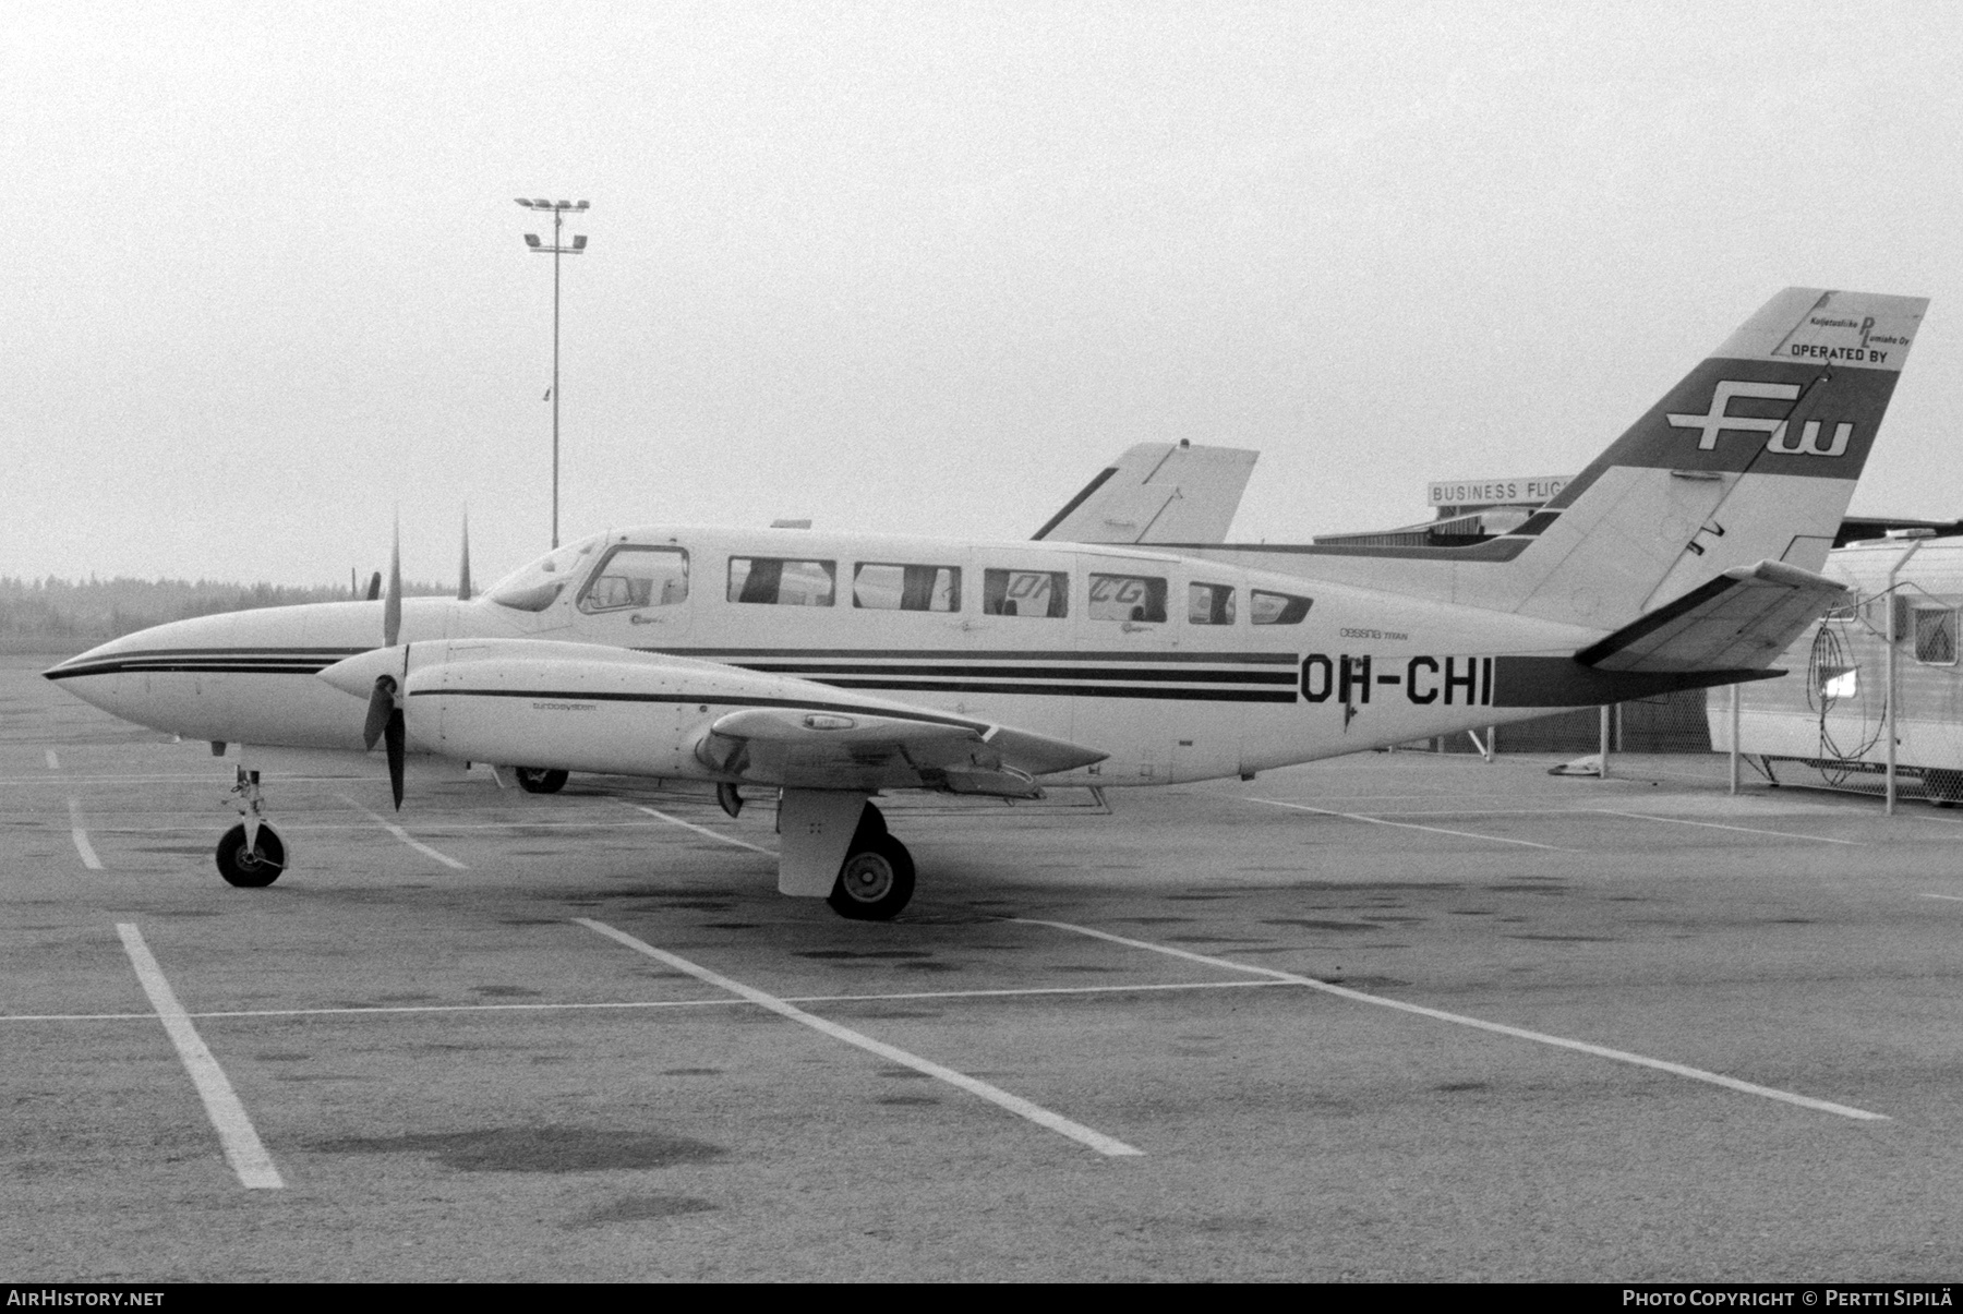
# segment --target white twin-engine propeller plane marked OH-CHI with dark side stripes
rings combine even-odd
[[[1769,662],[1845,593],[1818,572],[1926,304],[1780,293],[1553,503],[1462,548],[1141,546],[1123,526],[1168,503],[1133,481],[1142,511],[1105,517],[1115,544],[656,526],[471,601],[391,583],[379,603],[179,621],[47,678],[241,744],[232,884],[285,866],[257,752],[385,740],[397,805],[408,752],[548,790],[703,782],[730,813],[744,788],[777,792],[777,888],[885,919],[915,876],[872,803],[885,790],[1247,778],[1782,674]],[[1207,505],[1194,524],[1223,530]]]

